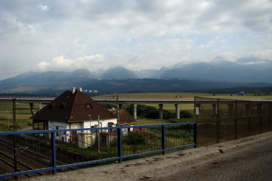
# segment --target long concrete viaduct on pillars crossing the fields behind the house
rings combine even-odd
[[[39,103],[40,109],[43,108],[43,103],[50,103],[54,100],[54,97],[51,98],[43,98],[43,97],[0,97],[0,102],[12,103],[13,99],[16,99],[17,103],[29,103],[30,107],[33,108],[34,103]],[[105,97],[92,97],[92,99],[100,104],[117,104],[117,100],[115,98],[105,98]],[[237,102],[238,101],[238,102]],[[220,99],[220,103],[228,104],[229,113],[232,113],[233,105],[235,103],[243,103],[248,104],[249,101],[257,102],[271,102],[271,99],[239,99],[239,100],[224,100]],[[163,105],[164,104],[174,104],[176,108],[176,119],[180,118],[180,104],[194,104],[196,105],[196,109],[200,108],[201,104],[212,104],[213,112],[216,114],[217,108],[217,99],[203,99],[194,101],[194,98],[184,98],[184,99],[171,99],[171,98],[119,98],[118,106],[121,109],[123,104],[133,105],[134,107],[134,119],[137,119],[137,104],[158,104],[159,105],[159,117],[163,119]]]

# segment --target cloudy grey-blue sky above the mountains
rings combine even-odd
[[[249,55],[272,59],[271,0],[0,1],[0,80]]]

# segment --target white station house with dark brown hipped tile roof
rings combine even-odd
[[[34,123],[42,122],[44,130],[112,127],[117,117],[80,90],[66,90],[59,97],[30,117]],[[76,141],[77,132],[56,135],[61,141]],[[72,139],[70,139],[72,138]]]

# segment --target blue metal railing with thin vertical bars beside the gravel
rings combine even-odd
[[[105,161],[118,160],[121,163],[130,157],[196,147],[196,122],[0,132],[0,138],[3,168],[0,178],[31,176]],[[16,147],[12,144],[14,139]],[[12,159],[15,155],[16,161]]]

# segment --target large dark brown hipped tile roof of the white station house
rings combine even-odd
[[[59,97],[47,104],[38,111],[31,119],[41,119],[50,121],[76,122],[116,118],[111,111],[107,110],[99,103],[92,100],[79,90],[72,94],[71,90],[66,90]]]

